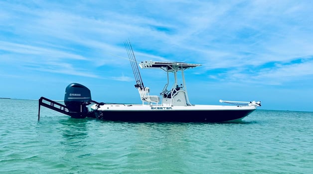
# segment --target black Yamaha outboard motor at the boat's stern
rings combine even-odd
[[[80,84],[73,83],[66,87],[64,104],[71,113],[71,117],[85,118],[88,115],[88,108],[91,102],[90,90]]]

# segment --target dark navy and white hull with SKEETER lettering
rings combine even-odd
[[[96,117],[111,121],[135,122],[224,122],[241,120],[255,106],[161,106],[141,104],[104,104],[91,106]]]

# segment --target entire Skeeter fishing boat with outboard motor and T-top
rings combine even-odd
[[[233,105],[192,104],[188,98],[184,71],[199,67],[201,64],[159,61],[143,61],[138,64],[130,42],[124,44],[134,73],[135,87],[142,103],[99,103],[91,99],[91,92],[87,87],[72,83],[66,87],[64,105],[45,97],[39,99],[38,120],[40,106],[45,106],[73,118],[92,117],[108,121],[237,122],[261,106],[261,101],[219,100]],[[150,88],[144,86],[139,67],[166,72],[167,82],[159,95],[150,95]],[[170,81],[170,75],[173,75],[173,82]]]

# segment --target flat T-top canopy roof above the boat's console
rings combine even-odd
[[[145,61],[139,64],[140,68],[151,68],[156,69],[160,68],[165,71],[174,71],[174,70],[186,70],[188,68],[199,67],[201,64],[187,64],[183,62],[153,62],[153,61]]]

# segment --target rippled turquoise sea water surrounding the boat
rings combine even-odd
[[[242,123],[73,119],[0,99],[1,174],[312,174],[313,112],[256,110]]]

